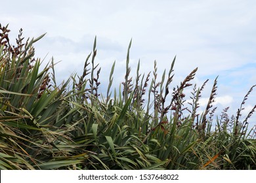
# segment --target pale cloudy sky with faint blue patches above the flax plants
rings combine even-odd
[[[164,69],[168,73],[177,56],[171,87],[198,67],[192,84],[201,86],[209,79],[200,101],[202,108],[218,76],[217,114],[230,107],[228,114],[236,115],[245,94],[256,84],[254,0],[3,1],[0,24],[9,24],[13,43],[20,28],[26,38],[47,33],[35,43],[35,55],[44,59],[44,64],[52,57],[60,61],[55,67],[59,82],[83,72],[96,36],[95,61],[102,68],[102,93],[114,61],[114,87],[124,80],[131,39],[134,78],[139,60],[142,74],[153,71],[156,60],[161,79]],[[242,118],[256,105],[255,90],[244,105]],[[250,127],[256,125],[256,114],[248,122]]]

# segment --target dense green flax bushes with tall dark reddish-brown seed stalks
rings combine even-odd
[[[241,119],[255,86],[234,116],[225,108],[213,122],[217,78],[198,114],[207,80],[193,87],[194,69],[170,91],[175,58],[167,78],[165,71],[159,78],[155,62],[148,75],[140,74],[139,63],[133,79],[130,42],[124,81],[112,89],[114,63],[104,96],[96,38],[83,75],[57,86],[53,61],[41,69],[33,57],[33,43],[43,35],[24,43],[20,29],[12,46],[8,25],[0,29],[0,169],[256,169],[255,127],[247,122],[256,105]],[[190,86],[192,102],[184,107]]]

